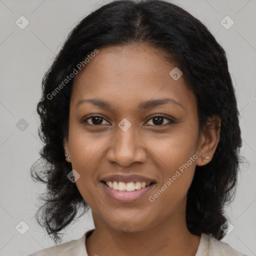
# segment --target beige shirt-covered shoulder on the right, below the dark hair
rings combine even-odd
[[[217,240],[216,238],[202,234],[202,239],[208,243],[208,256],[247,256],[229,246],[227,243]]]

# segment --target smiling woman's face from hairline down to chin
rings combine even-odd
[[[174,67],[149,46],[108,46],[75,77],[67,160],[94,220],[111,228],[139,231],[185,216],[195,166],[207,155],[196,99],[177,69],[169,74]]]

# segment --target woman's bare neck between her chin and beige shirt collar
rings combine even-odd
[[[95,230],[86,239],[88,255],[194,256],[200,236],[188,231],[183,204],[158,225],[136,232],[112,228],[92,212]]]

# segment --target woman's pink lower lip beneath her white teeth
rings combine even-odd
[[[145,195],[154,185],[155,183],[152,183],[149,186],[136,189],[134,191],[119,191],[115,190],[113,188],[110,188],[105,183],[100,182],[102,185],[102,188],[104,191],[113,199],[119,202],[134,202],[143,195]]]

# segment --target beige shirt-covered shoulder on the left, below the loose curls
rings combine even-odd
[[[71,240],[55,246],[41,249],[32,254],[29,254],[28,256],[86,255],[84,253],[86,252],[84,241],[85,241],[85,234],[79,239]]]

